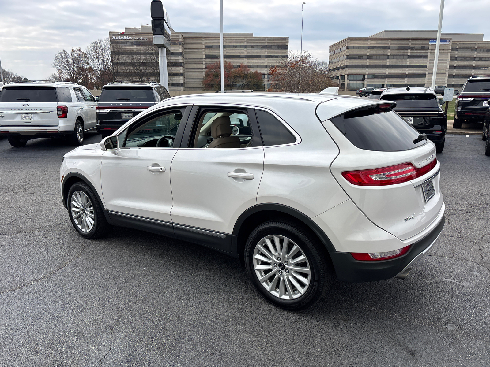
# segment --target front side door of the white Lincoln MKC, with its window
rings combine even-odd
[[[102,155],[102,196],[115,223],[173,235],[170,168],[178,148],[172,138],[187,115],[178,107],[142,116],[119,134],[117,154]]]

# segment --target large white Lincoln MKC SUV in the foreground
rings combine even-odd
[[[392,102],[325,93],[195,94],[148,108],[64,156],[74,229],[88,239],[109,225],[142,229],[237,257],[289,310],[318,301],[334,275],[405,277],[444,226],[436,147]]]

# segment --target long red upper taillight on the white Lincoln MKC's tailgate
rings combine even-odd
[[[383,168],[363,169],[342,172],[342,176],[351,184],[358,186],[384,186],[401,184],[425,175],[436,166],[437,159],[417,168],[412,163],[401,163]]]

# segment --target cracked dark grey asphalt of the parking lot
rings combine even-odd
[[[335,281],[297,313],[261,298],[238,260],[213,250],[123,228],[84,240],[60,200],[71,149],[0,138],[0,366],[490,365],[481,137],[446,137],[446,224],[405,280]]]

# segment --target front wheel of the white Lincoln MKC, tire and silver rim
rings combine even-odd
[[[73,228],[82,237],[101,237],[110,227],[94,191],[84,182],[77,182],[70,187],[67,204]]]

